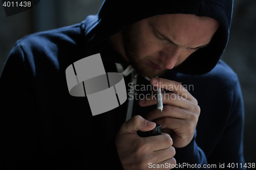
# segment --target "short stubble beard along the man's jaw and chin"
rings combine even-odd
[[[143,62],[141,61],[140,56],[138,55],[139,45],[138,45],[137,27],[138,27],[138,24],[135,23],[125,28],[122,31],[123,47],[124,47],[124,52],[127,59],[129,59],[133,68],[142,77],[153,78],[153,77],[164,75],[165,72],[167,71],[166,68],[162,70],[157,70],[143,64]],[[151,60],[154,63],[160,63],[159,61],[156,61],[156,59],[151,56],[146,56],[145,58],[148,60]]]

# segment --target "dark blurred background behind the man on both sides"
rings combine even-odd
[[[81,22],[88,15],[96,14],[102,2],[42,0],[34,8],[9,17],[6,17],[4,7],[0,7],[0,74],[16,40],[34,32]],[[247,163],[256,163],[255,32],[256,1],[234,0],[230,39],[222,59],[238,74],[242,87],[245,105],[244,154]]]

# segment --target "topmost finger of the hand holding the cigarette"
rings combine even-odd
[[[185,87],[182,86],[181,83],[162,79],[162,78],[152,78],[150,80],[150,83],[152,86],[155,86],[157,88],[164,88],[169,91],[173,91],[174,93],[182,96],[183,98],[193,101],[194,103],[198,104],[197,100],[191,95]]]

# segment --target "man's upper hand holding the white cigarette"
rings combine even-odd
[[[200,107],[197,100],[178,82],[162,78],[151,79],[151,84],[157,88],[164,88],[169,93],[162,93],[163,112],[155,109],[149,112],[145,119],[153,121],[162,126],[162,132],[168,133],[173,139],[175,148],[184,148],[193,139]],[[152,96],[149,100],[140,100],[141,107],[157,104]]]

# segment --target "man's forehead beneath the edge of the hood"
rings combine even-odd
[[[148,23],[170,39],[190,45],[200,45],[210,41],[219,28],[217,20],[191,14],[157,15],[148,18]]]

